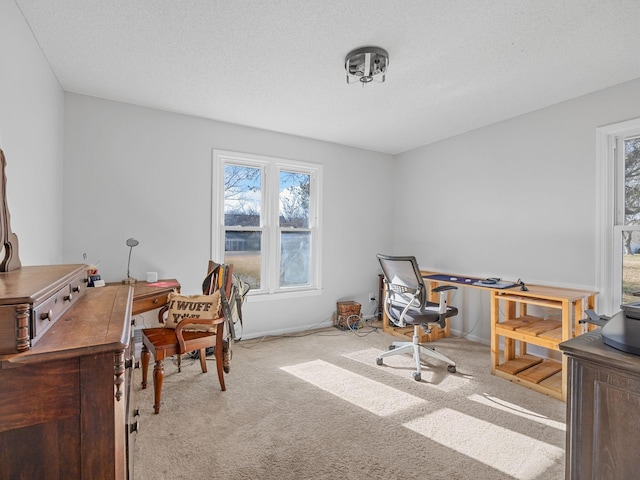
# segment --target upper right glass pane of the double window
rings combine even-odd
[[[280,172],[280,226],[309,227],[309,189],[311,176]]]

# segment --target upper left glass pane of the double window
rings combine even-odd
[[[259,227],[262,171],[255,167],[224,167],[225,226]]]

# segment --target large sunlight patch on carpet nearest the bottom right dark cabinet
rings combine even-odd
[[[404,427],[518,480],[533,480],[564,450],[464,413],[443,408]]]

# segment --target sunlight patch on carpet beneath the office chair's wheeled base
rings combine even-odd
[[[374,368],[383,370],[385,373],[391,373],[402,378],[407,378],[414,382],[411,374],[415,372],[416,365],[413,358],[407,355],[392,355],[384,359],[383,365],[376,365],[376,358],[382,353],[376,348],[368,348],[357,352],[345,353],[345,358],[355,360],[365,365],[373,365]],[[423,357],[423,359],[426,357]],[[430,361],[430,360],[429,360]],[[423,362],[424,363],[424,362]],[[460,374],[451,374],[447,371],[447,366],[438,360],[433,360],[433,365],[422,366],[422,383],[426,383],[433,388],[437,388],[442,392],[453,392],[463,388],[469,384],[470,378],[463,377]]]

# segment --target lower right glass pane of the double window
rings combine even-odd
[[[280,286],[309,285],[311,233],[282,232],[280,245]]]

